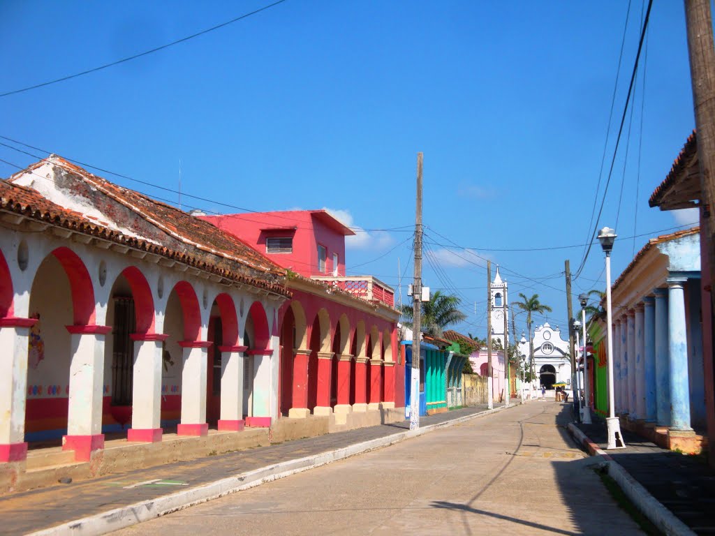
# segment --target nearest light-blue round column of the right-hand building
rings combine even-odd
[[[688,337],[685,324],[685,294],[681,277],[668,278],[668,352],[670,364],[670,430],[690,427]]]

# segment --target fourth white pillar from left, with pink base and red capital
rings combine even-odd
[[[206,368],[209,341],[180,341],[184,349],[181,375],[181,423],[177,435],[207,435]]]

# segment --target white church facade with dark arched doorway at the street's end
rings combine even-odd
[[[553,384],[571,384],[571,357],[568,355],[568,340],[561,338],[561,330],[548,322],[534,330],[534,371],[539,379],[538,387],[551,389]],[[528,356],[529,342],[526,337],[519,341],[519,353]]]

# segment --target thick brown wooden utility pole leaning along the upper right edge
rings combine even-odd
[[[700,232],[709,240],[710,284],[715,284],[715,224],[711,216],[715,209],[715,46],[710,0],[685,0],[685,24],[703,204]],[[715,311],[715,292],[710,292],[710,299]]]

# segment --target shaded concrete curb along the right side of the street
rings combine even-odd
[[[623,469],[623,466],[618,464],[611,458],[605,450],[601,449],[591,441],[586,434],[570,422],[568,431],[571,432],[573,438],[580,442],[586,448],[591,456],[600,456],[606,462],[608,467],[608,476],[615,480],[621,490],[626,494],[626,497],[636,505],[638,510],[648,517],[651,522],[659,527],[660,530],[668,536],[695,536],[695,532],[691,530],[684,522],[678,519],[673,512],[668,510],[661,502],[646,490],[636,479],[634,479],[628,471]]]

